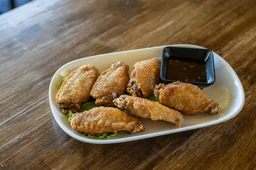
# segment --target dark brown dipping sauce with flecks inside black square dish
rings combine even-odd
[[[204,62],[172,57],[168,60],[168,80],[207,82],[206,65]]]

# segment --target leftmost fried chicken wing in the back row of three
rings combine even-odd
[[[60,104],[61,113],[76,112],[80,109],[81,103],[86,103],[90,99],[97,74],[98,69],[92,64],[87,64],[68,75],[56,95],[56,103]]]

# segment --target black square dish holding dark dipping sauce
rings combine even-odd
[[[210,50],[167,46],[161,62],[163,83],[181,81],[204,89],[215,82],[213,54]]]

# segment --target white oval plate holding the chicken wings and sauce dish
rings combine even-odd
[[[182,46],[190,48],[202,48],[195,45],[166,45],[166,46]],[[175,132],[188,131],[200,127],[218,124],[224,122],[232,117],[235,117],[239,111],[243,108],[244,104],[244,90],[241,81],[237,77],[237,74],[229,66],[229,64],[220,57],[220,55],[214,54],[215,74],[216,81],[214,85],[204,89],[204,92],[210,96],[214,101],[218,102],[221,106],[220,113],[217,115],[209,115],[200,113],[195,116],[184,115],[184,122],[180,128],[175,127],[174,124],[164,122],[161,120],[152,121],[141,119],[145,127],[145,131],[138,132],[136,134],[120,134],[113,138],[106,139],[90,139],[82,136],[80,132],[74,131],[70,124],[67,122],[67,115],[62,114],[58,105],[55,103],[55,96],[58,92],[57,84],[62,80],[64,76],[67,76],[71,71],[74,71],[79,66],[84,64],[93,64],[99,73],[108,69],[111,64],[122,61],[125,64],[129,64],[129,71],[131,73],[132,66],[135,62],[140,60],[151,59],[154,57],[161,57],[161,51],[165,46],[156,46],[152,48],[142,48],[138,50],[130,50],[125,52],[106,53],[102,55],[95,55],[92,57],[86,57],[83,59],[77,59],[68,62],[64,66],[60,67],[54,74],[49,87],[49,101],[51,110],[56,122],[60,125],[63,131],[68,135],[79,141],[87,143],[120,143],[126,141],[134,141],[138,139],[151,138],[154,136],[161,136],[164,134],[172,134]]]

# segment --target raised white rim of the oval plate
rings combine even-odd
[[[138,51],[138,50],[148,50],[148,49],[152,49],[152,48],[164,48],[165,46],[188,46],[188,47],[191,47],[191,48],[204,48],[204,47],[198,46],[198,45],[177,44],[177,45],[153,46],[153,47],[148,47],[148,48],[140,48],[140,49],[135,49],[135,50],[126,50],[126,51],[122,51],[122,52],[113,52],[113,53],[116,54],[116,53],[125,53],[125,52]],[[61,127],[61,129],[64,132],[66,132],[69,136],[71,136],[72,138],[75,138],[79,141],[83,141],[83,142],[86,142],[86,143],[94,143],[94,144],[122,143],[122,142],[127,142],[127,141],[134,141],[134,140],[138,140],[138,139],[152,138],[152,137],[156,137],[156,136],[172,134],[172,133],[175,133],[175,132],[183,132],[183,131],[188,131],[188,130],[192,130],[192,129],[198,129],[200,127],[207,127],[209,125],[220,124],[221,122],[225,122],[225,121],[227,121],[231,118],[236,117],[236,115],[242,110],[242,108],[244,106],[244,89],[243,89],[243,85],[242,85],[241,81],[239,80],[239,77],[237,76],[234,69],[232,69],[232,67],[228,64],[227,61],[225,61],[222,57],[220,57],[220,55],[218,55],[217,53],[212,51],[212,53],[214,55],[216,55],[216,57],[220,58],[221,62],[223,62],[225,64],[225,66],[228,66],[228,69],[232,70],[232,74],[234,75],[234,79],[237,80],[237,82],[238,82],[237,86],[240,87],[239,92],[238,92],[238,94],[240,94],[240,96],[241,96],[240,100],[239,100],[239,106],[236,107],[236,110],[233,111],[233,114],[231,116],[224,116],[224,117],[218,118],[216,120],[212,120],[211,122],[205,122],[205,123],[202,123],[202,124],[191,125],[191,126],[188,126],[188,127],[180,127],[178,129],[170,129],[170,130],[166,130],[166,131],[152,132],[150,134],[141,134],[141,135],[138,135],[138,136],[130,136],[130,137],[126,137],[126,138],[104,139],[104,140],[102,140],[102,139],[90,139],[90,138],[85,138],[83,136],[77,136],[77,134],[75,134],[72,131],[69,131],[69,129],[67,129],[67,127],[65,127],[63,122],[57,118],[57,115],[53,111],[53,104],[52,104],[52,101],[51,101],[52,81],[56,78],[56,74],[63,67],[65,67],[65,66],[67,66],[67,65],[69,65],[73,62],[77,62],[79,60],[84,60],[84,59],[88,59],[88,58],[92,58],[92,57],[99,57],[99,56],[109,55],[109,54],[113,54],[113,53],[104,53],[104,54],[100,54],[100,55],[92,55],[92,56],[89,56],[89,57],[83,57],[81,59],[72,60],[70,62],[67,62],[63,66],[61,66],[54,73],[54,75],[52,76],[51,83],[49,85],[49,104],[51,106],[52,115],[54,116],[54,119],[56,120],[57,124]]]

